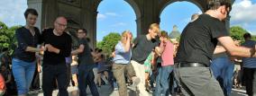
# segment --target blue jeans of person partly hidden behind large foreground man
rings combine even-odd
[[[216,80],[223,88],[224,95],[230,96],[233,86],[233,68],[234,65],[228,57],[215,58],[210,65]]]

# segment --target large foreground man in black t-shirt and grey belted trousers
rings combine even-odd
[[[227,51],[231,56],[255,57],[255,48],[235,46],[224,19],[231,10],[228,0],[213,0],[208,10],[194,22],[189,22],[181,34],[175,70],[183,94],[192,96],[223,96],[219,83],[209,69],[214,51]],[[215,48],[217,42],[223,48]]]

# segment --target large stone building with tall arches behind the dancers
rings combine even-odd
[[[68,30],[86,28],[92,47],[96,47],[97,7],[102,0],[28,0],[28,7],[39,12],[36,24],[40,29],[51,27],[59,16],[68,18]],[[174,2],[187,1],[196,4],[202,12],[206,11],[209,0],[124,0],[133,7],[136,14],[137,35],[145,34],[152,22],[160,22],[160,13]],[[234,0],[231,0],[233,3]],[[114,3],[114,2],[113,2]],[[229,21],[227,21],[229,26]]]

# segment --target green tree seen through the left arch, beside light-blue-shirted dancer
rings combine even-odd
[[[112,53],[114,46],[117,44],[118,40],[121,39],[121,36],[117,32],[111,32],[106,35],[102,41],[97,42],[96,47],[101,48],[103,52],[107,55]]]

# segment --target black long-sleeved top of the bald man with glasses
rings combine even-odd
[[[59,54],[46,50],[43,55],[43,65],[59,65],[65,64],[65,57],[69,57],[71,53],[71,37],[68,33],[63,32],[62,35],[56,36],[53,29],[47,29],[41,32],[41,39],[44,44],[50,44],[54,48],[59,48]]]

